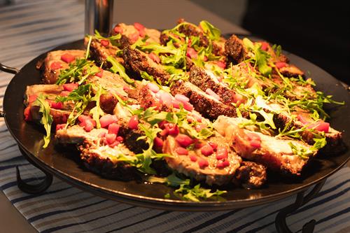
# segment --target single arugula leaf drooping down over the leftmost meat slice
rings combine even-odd
[[[48,146],[48,143],[50,143],[50,137],[51,137],[51,125],[52,125],[52,115],[50,115],[50,105],[48,102],[45,101],[45,96],[43,94],[39,94],[38,98],[36,98],[36,101],[33,102],[33,106],[39,106],[39,112],[42,113],[40,122],[41,125],[45,128],[46,135],[43,137],[44,139],[44,145],[43,148],[46,148]]]

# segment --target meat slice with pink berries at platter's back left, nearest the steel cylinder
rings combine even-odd
[[[45,84],[56,83],[60,71],[69,67],[69,62],[65,61],[83,57],[85,57],[84,50],[56,50],[48,52],[43,66],[41,66],[43,82]]]

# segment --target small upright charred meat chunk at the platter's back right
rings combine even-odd
[[[247,52],[243,42],[236,35],[230,36],[225,42],[225,55],[230,57],[236,64],[243,62],[246,58]]]

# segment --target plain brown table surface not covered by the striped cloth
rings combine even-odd
[[[20,2],[21,3],[21,2]],[[55,3],[55,1],[53,2]],[[83,1],[76,1],[83,8]],[[137,7],[136,7],[137,6]],[[209,10],[190,1],[116,1],[114,22],[143,22],[146,27],[153,28],[170,28],[174,27],[179,15],[190,22],[197,23],[203,18],[209,20],[214,25],[219,25],[222,32],[235,34],[248,34],[248,31],[241,27],[228,22],[219,15],[211,13]],[[1,8],[0,8],[1,10]],[[150,17],[157,15],[158,17]],[[0,15],[1,16],[1,15]],[[83,17],[83,16],[80,16]],[[162,20],[158,20],[161,18]],[[81,20],[81,19],[80,19]],[[1,21],[0,21],[1,25]],[[81,38],[83,38],[83,28]],[[6,33],[6,32],[5,32]],[[0,41],[1,42],[1,41]],[[57,42],[59,44],[59,42]],[[58,45],[57,44],[57,45]],[[35,57],[34,55],[33,57]],[[29,61],[29,59],[28,59]],[[9,66],[21,66],[23,64],[16,63],[8,64]],[[348,163],[350,167],[350,163]],[[8,199],[3,192],[0,192],[0,225],[1,232],[36,232],[25,218],[8,202]]]

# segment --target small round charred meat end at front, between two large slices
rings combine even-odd
[[[266,167],[255,162],[243,161],[237,169],[236,178],[244,188],[260,188],[267,181]]]

